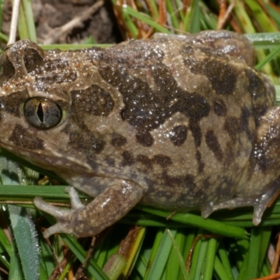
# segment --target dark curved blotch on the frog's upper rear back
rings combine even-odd
[[[202,62],[198,62],[193,57],[184,59],[184,64],[192,73],[207,76],[217,94],[228,95],[235,91],[238,73],[228,62],[213,58],[204,58]]]

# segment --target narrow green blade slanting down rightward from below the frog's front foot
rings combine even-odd
[[[61,236],[64,242],[67,244],[67,246],[69,246],[73,254],[76,255],[78,260],[80,260],[80,262],[84,262],[86,252],[83,249],[83,247],[80,246],[80,244],[78,244],[76,239],[73,239],[73,237],[70,237],[69,235],[62,234]],[[90,272],[90,274],[92,274],[92,276],[94,276],[95,279],[97,280],[109,280],[108,276],[104,274],[102,269],[96,264],[94,260],[92,260],[92,258],[90,259],[90,262],[88,262],[87,264],[87,271]]]

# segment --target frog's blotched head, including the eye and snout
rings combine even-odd
[[[61,54],[44,52],[29,40],[1,53],[0,147],[47,169],[57,162],[73,165],[65,157],[71,153],[65,127],[77,74]]]

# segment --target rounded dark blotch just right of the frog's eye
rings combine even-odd
[[[85,113],[106,117],[111,113],[114,106],[109,92],[98,85],[91,85],[85,90],[72,90],[71,99],[71,111],[75,112],[73,118],[77,123],[83,120]]]

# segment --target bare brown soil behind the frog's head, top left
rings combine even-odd
[[[36,23],[38,43],[83,43],[85,38],[92,36],[96,43],[118,43],[120,34],[113,14],[110,0],[95,13],[86,15],[90,7],[98,0],[31,0]],[[11,4],[4,1],[3,26],[4,34],[9,33]],[[66,32],[55,38],[59,27],[66,25],[73,18],[83,18],[78,25],[70,27]]]

